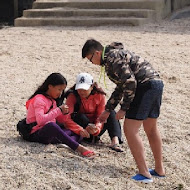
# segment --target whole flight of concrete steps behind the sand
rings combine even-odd
[[[159,17],[165,0],[36,0],[15,26],[138,26]]]

